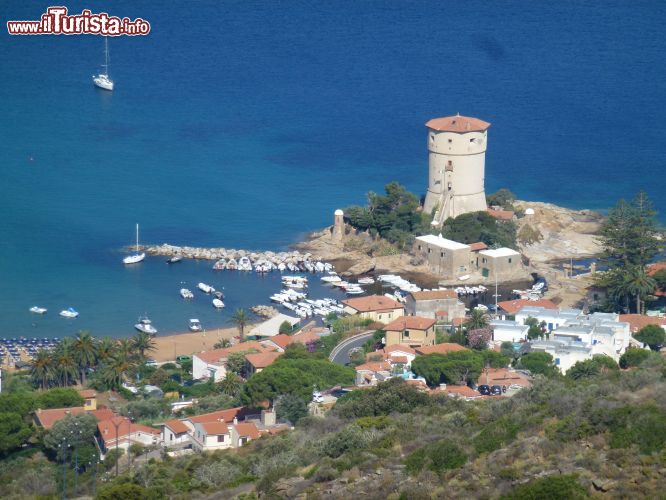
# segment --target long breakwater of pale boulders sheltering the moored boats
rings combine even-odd
[[[268,261],[275,266],[279,264],[301,265],[306,262],[321,261],[318,256],[315,256],[310,252],[299,252],[298,250],[291,250],[288,252],[255,252],[251,250],[236,250],[233,248],[181,247],[169,245],[167,243],[146,246],[143,250],[149,255],[162,255],[165,257],[180,255],[184,259],[239,260],[243,257],[247,257],[252,262]]]

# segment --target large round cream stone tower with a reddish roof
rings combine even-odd
[[[427,214],[432,225],[449,217],[486,210],[485,163],[490,123],[467,116],[434,118],[428,128]]]

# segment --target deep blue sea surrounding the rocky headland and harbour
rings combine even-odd
[[[2,2],[2,24],[48,5]],[[91,83],[100,37],[0,35],[0,337],[225,325],[277,276],[125,267],[135,223],[145,243],[284,249],[391,180],[423,193],[424,123],[458,112],[492,123],[488,192],[605,209],[642,189],[665,220],[663,2],[66,5],[152,31],[110,40],[113,93]],[[198,281],[225,311],[180,299]]]

